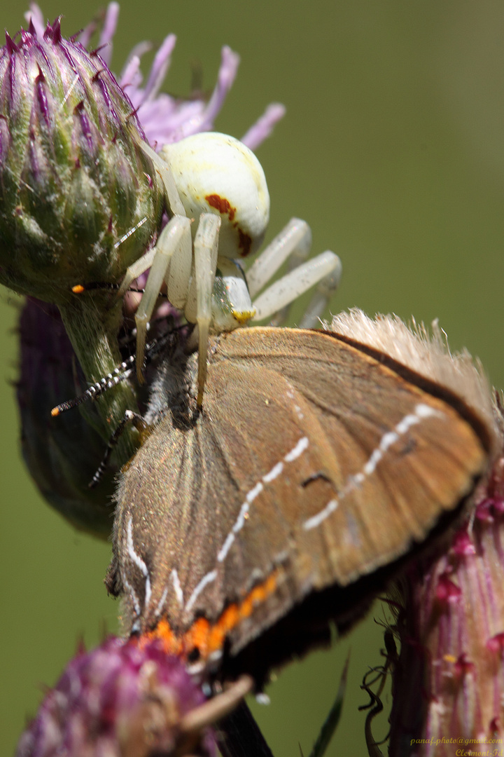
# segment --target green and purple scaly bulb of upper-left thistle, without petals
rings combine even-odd
[[[116,282],[156,237],[162,196],[107,65],[30,22],[0,50],[0,282],[68,304]]]

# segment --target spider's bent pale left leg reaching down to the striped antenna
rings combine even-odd
[[[190,281],[193,245],[190,235],[190,220],[185,216],[174,216],[162,230],[153,248],[154,255],[144,295],[135,315],[137,326],[137,375],[143,382],[145,340],[147,324],[156,307],[162,284],[168,285],[168,298],[174,307],[184,307]],[[145,257],[145,256],[144,256]]]

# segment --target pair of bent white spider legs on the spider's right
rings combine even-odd
[[[277,325],[286,318],[290,304],[317,285],[317,291],[301,322],[302,328],[305,329],[317,326],[317,320],[339,284],[342,263],[338,255],[331,251],[323,252],[306,261],[310,248],[311,230],[308,223],[292,218],[255,260],[246,274],[252,298],[286,260],[289,260],[289,272],[252,300],[256,311],[252,322],[262,321],[277,314],[274,319]]]

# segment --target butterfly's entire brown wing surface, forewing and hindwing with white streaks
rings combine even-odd
[[[186,429],[167,413],[119,488],[130,625],[168,618],[181,635],[237,606],[237,652],[313,590],[407,553],[487,466],[458,398],[444,395],[325,332],[215,340],[203,413]]]

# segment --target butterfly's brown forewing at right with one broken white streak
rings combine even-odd
[[[324,477],[305,484],[312,497],[302,497],[297,511],[292,491],[279,500],[294,513],[301,556],[296,575],[304,575],[310,556],[314,587],[346,585],[425,539],[487,467],[487,441],[462,417],[457,397],[446,391],[444,400],[432,396],[330,333],[244,330],[227,339],[221,356],[235,366],[260,363],[282,375],[305,428],[314,430],[310,444]],[[342,480],[324,468],[331,457]]]

